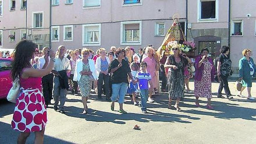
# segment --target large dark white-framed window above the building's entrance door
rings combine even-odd
[[[218,19],[218,0],[198,0],[198,19]]]

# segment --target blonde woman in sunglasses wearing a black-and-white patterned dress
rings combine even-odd
[[[168,43],[166,47],[171,48],[171,55],[167,57],[164,67],[170,68],[170,74],[168,78],[169,82],[169,103],[168,109],[172,109],[172,99],[176,99],[174,108],[180,111],[179,101],[184,96],[184,67],[188,63],[191,63],[190,58],[181,55],[180,46],[175,44],[171,46]]]

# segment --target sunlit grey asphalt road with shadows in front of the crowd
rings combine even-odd
[[[234,82],[229,83],[232,94]],[[256,97],[256,83],[252,94]],[[193,82],[190,82],[193,90]],[[46,144],[70,143],[239,143],[256,142],[256,101],[234,96],[234,99],[216,98],[218,83],[212,84],[212,106],[206,109],[207,99],[200,99],[195,107],[193,93],[186,93],[180,103],[181,112],[167,109],[168,97],[162,93],[156,102],[148,104],[148,114],[131,104],[130,97],[124,109],[127,114],[111,111],[110,102],[99,101],[92,95],[88,102],[89,114],[83,115],[81,97],[67,95],[66,113],[47,109],[48,123],[45,130]],[[244,93],[246,95],[246,91]],[[174,102],[173,102],[174,104]],[[14,104],[0,101],[0,143],[16,143],[19,132],[11,129]],[[134,125],[140,130],[134,130]],[[27,143],[33,143],[31,134]]]

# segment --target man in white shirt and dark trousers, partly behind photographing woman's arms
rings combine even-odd
[[[45,67],[43,67],[45,65],[45,57],[49,58],[50,61],[50,57],[48,56],[48,47],[44,47],[43,48],[43,56],[41,56],[40,58],[38,58],[38,63],[37,63],[37,69],[45,69]],[[51,99],[52,99],[52,88],[53,88],[53,74],[47,74],[44,77],[42,77],[42,86],[43,86],[43,96],[45,98],[45,105],[46,107],[48,107],[48,105],[51,103]]]

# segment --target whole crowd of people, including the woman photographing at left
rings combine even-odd
[[[96,54],[87,48],[66,50],[63,45],[56,52],[44,47],[40,54],[35,46],[33,42],[23,40],[17,44],[13,55],[11,76],[13,80],[19,79],[22,89],[11,122],[12,128],[21,132],[18,143],[25,143],[30,132],[35,132],[36,143],[43,142],[47,107],[53,97],[54,110],[65,113],[67,90],[81,96],[83,114],[88,113],[87,101],[92,90],[98,99],[106,95],[112,111],[115,102],[118,102],[119,112],[127,113],[123,104],[125,95],[130,95],[132,104],[141,107],[142,113],[147,113],[147,101],[154,102],[152,95],[157,94],[160,77],[163,81],[161,91],[168,92],[168,109],[180,111],[179,101],[184,97],[185,86],[186,91],[191,93],[188,83],[192,77],[191,66],[195,65],[196,107],[200,106],[199,97],[205,97],[208,100],[207,109],[214,109],[211,106],[211,82],[214,80],[220,81],[218,97],[224,98],[221,93],[224,88],[227,98],[232,99],[228,86],[232,68],[228,57],[230,48],[227,46],[221,48],[217,68],[208,56],[208,49],[202,49],[200,55],[191,59],[181,51],[180,45],[170,43],[166,47],[171,53],[164,65],[160,64],[152,45],[138,49],[138,53],[133,47],[112,46],[109,51],[99,48]],[[241,92],[247,87],[248,99],[255,99],[250,93],[252,76],[255,77],[256,72],[251,52],[250,49],[242,52],[239,79],[243,86]],[[238,95],[243,97],[241,92]],[[174,106],[172,100],[176,101]]]

